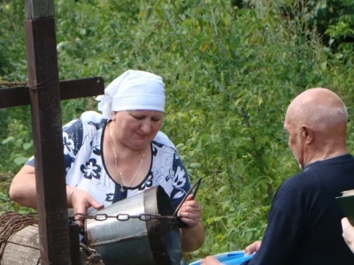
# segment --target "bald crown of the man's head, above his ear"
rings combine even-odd
[[[316,132],[326,132],[337,125],[346,125],[348,114],[341,98],[327,88],[311,88],[290,103],[287,122],[311,126]]]

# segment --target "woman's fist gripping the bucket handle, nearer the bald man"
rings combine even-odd
[[[202,208],[199,203],[194,201],[192,194],[190,194],[186,201],[183,202],[178,211],[178,216],[181,218],[181,221],[186,223],[189,227],[195,227],[196,224],[200,222]]]

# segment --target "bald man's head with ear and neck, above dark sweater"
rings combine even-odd
[[[338,95],[326,88],[312,88],[297,95],[287,110],[284,129],[289,148],[300,167],[346,153],[348,114]]]

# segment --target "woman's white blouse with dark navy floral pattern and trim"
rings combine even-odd
[[[152,186],[162,186],[177,208],[190,189],[190,180],[178,152],[158,141],[152,141],[150,170],[142,183],[124,187],[116,183],[104,168],[102,145],[107,120],[73,120],[63,127],[66,185],[80,188],[91,194],[104,207],[126,199]],[[27,164],[35,164],[31,158]],[[89,209],[89,212],[93,208]]]

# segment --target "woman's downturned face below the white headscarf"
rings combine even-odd
[[[118,111],[112,116],[113,135],[128,148],[146,148],[161,128],[163,119],[164,112],[156,110]]]

